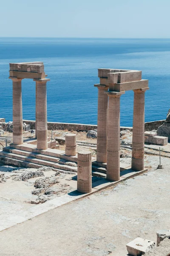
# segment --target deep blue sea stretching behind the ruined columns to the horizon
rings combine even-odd
[[[142,70],[149,79],[145,122],[170,108],[170,39],[0,38],[0,117],[12,120],[10,62],[43,61],[48,121],[97,123],[98,68]],[[35,82],[22,81],[23,119],[35,119]],[[133,92],[121,96],[121,125],[132,126]]]

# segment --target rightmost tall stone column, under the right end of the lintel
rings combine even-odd
[[[144,93],[149,88],[134,91],[132,169],[144,169]]]

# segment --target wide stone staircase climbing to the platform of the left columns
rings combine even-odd
[[[65,151],[48,148],[38,150],[35,144],[24,142],[22,145],[10,144],[9,147],[0,151],[0,162],[26,168],[40,168],[48,166],[54,170],[66,172],[77,172],[77,166],[71,166],[70,162],[77,163],[77,155],[69,157]],[[106,163],[97,163],[96,158],[92,157],[92,176],[106,177]],[[125,170],[126,166],[121,164],[120,171]]]

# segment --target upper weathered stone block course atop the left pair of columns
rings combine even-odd
[[[9,63],[10,71],[20,71],[29,73],[44,73],[43,62],[21,62]]]

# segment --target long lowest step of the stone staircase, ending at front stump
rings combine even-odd
[[[12,159],[15,159],[15,160],[35,163],[35,164],[38,164],[38,165],[41,165],[41,166],[49,166],[49,167],[52,167],[52,168],[55,168],[55,169],[61,169],[61,170],[70,171],[70,172],[77,172],[77,167],[74,167],[74,166],[68,166],[68,165],[64,165],[64,164],[54,163],[54,162],[51,162],[51,161],[48,161],[48,160],[37,159],[35,157],[30,157],[30,156],[25,156],[25,155],[20,155],[20,154],[14,154],[14,153],[11,153],[11,152],[0,151],[0,156],[12,158]]]

